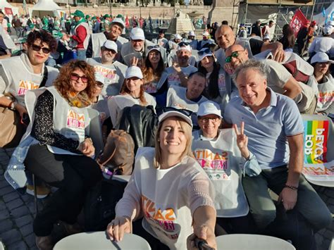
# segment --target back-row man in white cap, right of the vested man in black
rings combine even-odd
[[[138,65],[142,63],[142,58],[147,56],[147,47],[153,46],[154,44],[149,40],[145,39],[144,30],[140,27],[134,27],[130,32],[130,42],[123,44],[120,54],[123,58],[125,65],[132,65],[132,58],[139,59]],[[163,61],[166,61],[166,50],[163,47],[161,49],[161,57]]]

